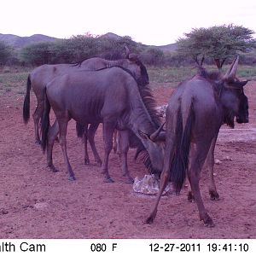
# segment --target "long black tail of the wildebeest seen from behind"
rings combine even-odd
[[[171,181],[175,183],[176,194],[180,192],[189,166],[189,149],[191,131],[195,121],[193,102],[190,105],[189,116],[183,129],[181,108],[177,111],[175,152],[171,161]]]

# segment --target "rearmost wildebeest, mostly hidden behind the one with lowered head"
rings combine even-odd
[[[65,74],[72,73],[77,70],[97,70],[104,67],[113,67],[113,66],[121,66],[129,69],[134,77],[137,79],[138,84],[145,85],[148,84],[148,73],[146,67],[143,66],[143,63],[139,61],[137,55],[130,54],[129,49],[126,47],[125,59],[117,60],[117,61],[108,61],[99,57],[90,58],[85,61],[82,61],[78,65],[73,64],[56,64],[56,65],[43,65],[40,67],[36,67],[32,70],[32,73],[29,74],[26,83],[26,96],[23,104],[23,119],[24,122],[27,123],[30,117],[30,90],[34,91],[38,105],[33,113],[34,119],[34,129],[35,129],[35,142],[40,143],[40,137],[38,133],[38,124],[44,113],[44,88],[46,84],[48,84],[55,77]],[[95,127],[91,127],[90,134],[93,134]],[[93,140],[90,140],[94,143]],[[91,145],[92,148],[95,148],[95,145]],[[87,151],[85,151],[86,153]],[[96,157],[97,161],[99,160],[99,156],[95,150],[93,153]]]

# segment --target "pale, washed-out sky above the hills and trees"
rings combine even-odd
[[[233,23],[256,32],[256,0],[0,0],[0,7],[0,33],[18,36],[113,32],[163,45],[199,27]]]

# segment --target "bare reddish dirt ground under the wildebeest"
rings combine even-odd
[[[154,90],[159,105],[168,101],[171,92],[168,88]],[[50,172],[45,155],[34,144],[32,119],[23,124],[23,96],[10,92],[0,96],[0,238],[256,238],[255,82],[247,85],[246,93],[250,123],[236,125],[245,129],[246,136],[241,139],[241,131],[225,130],[217,143],[216,158],[221,160],[215,166],[219,201],[209,199],[207,175],[201,179],[202,198],[214,228],[206,228],[199,221],[195,203],[186,201],[186,189],[179,196],[162,197],[154,224],[144,224],[155,197],[133,192],[121,176],[116,154],[110,155],[109,164],[115,183],[102,182],[100,167],[84,166],[83,144],[75,136],[73,121],[67,149],[77,180],[68,180],[58,143],[54,161],[60,172]],[[33,97],[31,110],[34,108]],[[96,146],[102,155],[101,129],[96,134]],[[147,172],[133,156],[131,150],[131,174],[143,177]],[[232,160],[224,160],[226,157]]]

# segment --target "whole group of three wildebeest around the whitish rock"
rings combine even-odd
[[[213,180],[218,131],[223,124],[233,128],[235,119],[237,123],[248,122],[248,102],[243,91],[247,81],[236,78],[238,59],[236,57],[225,74],[198,67],[193,78],[177,85],[168,103],[166,122],[162,123],[155,109],[147,69],[127,48],[125,59],[118,61],[96,57],[77,64],[44,65],[28,76],[23,119],[25,123],[29,119],[32,89],[38,99],[33,113],[36,143],[46,150],[49,168],[57,172],[52,150],[58,138],[71,180],[75,176],[67,156],[69,120],[77,122],[78,134],[84,133],[84,163],[90,163],[88,139],[96,162],[102,165],[104,181],[108,183],[113,182],[108,172],[108,156],[113,148],[114,131],[118,131],[118,151],[128,182],[133,182],[127,164],[129,148],[137,148],[135,157],[143,154],[148,172],[160,177],[159,194],[146,223],[153,222],[166,184],[171,182],[178,194],[188,177],[191,187],[188,199],[195,200],[200,219],[212,227],[212,218],[201,199],[199,181],[204,166],[210,174],[211,199],[218,200]],[[49,124],[51,108],[56,118],[53,125]],[[101,123],[103,160],[94,142]]]

